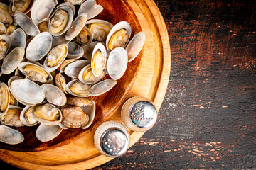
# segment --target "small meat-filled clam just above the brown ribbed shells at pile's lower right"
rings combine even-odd
[[[66,85],[66,90],[69,94],[77,97],[87,97],[87,92],[90,89],[89,84],[84,84],[81,81],[74,79]]]

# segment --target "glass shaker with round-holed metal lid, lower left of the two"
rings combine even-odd
[[[129,147],[129,132],[121,123],[103,123],[95,132],[95,146],[107,157],[118,157]]]

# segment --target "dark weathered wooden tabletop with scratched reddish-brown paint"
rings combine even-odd
[[[95,169],[256,169],[256,2],[155,2],[171,45],[159,119]]]

